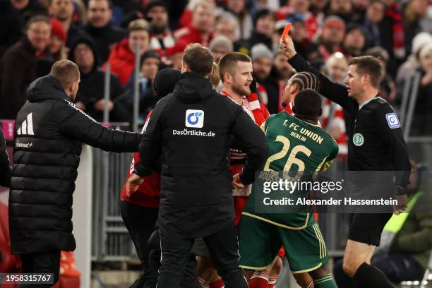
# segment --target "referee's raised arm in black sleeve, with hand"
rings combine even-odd
[[[294,49],[294,43],[290,37],[285,38],[285,42],[280,42],[280,51],[287,56],[289,64],[296,69],[297,72],[307,71],[313,73],[320,80],[320,94],[332,100],[333,102],[340,104],[349,113],[352,113],[356,108],[356,101],[348,96],[347,87],[338,83],[333,83],[322,73],[312,68],[307,62],[297,54]]]

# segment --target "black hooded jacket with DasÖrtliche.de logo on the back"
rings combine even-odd
[[[263,131],[239,104],[212,90],[207,78],[189,72],[157,103],[136,170],[148,174],[144,167],[155,169],[162,157],[160,225],[169,222],[194,238],[233,221],[231,135],[247,155],[241,181],[251,184],[267,145]]]

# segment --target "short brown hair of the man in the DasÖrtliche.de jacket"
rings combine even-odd
[[[201,44],[188,44],[184,49],[183,63],[191,72],[207,77],[212,72],[213,54]]]

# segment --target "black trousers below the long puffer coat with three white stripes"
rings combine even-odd
[[[20,284],[20,288],[47,288],[59,281],[60,251],[21,255],[23,273],[53,273],[53,284]]]

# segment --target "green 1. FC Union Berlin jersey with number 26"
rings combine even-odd
[[[288,172],[295,179],[305,174],[324,170],[339,150],[335,140],[319,125],[309,124],[286,112],[270,116],[263,124],[268,144],[268,157],[263,171]],[[313,220],[308,213],[257,213],[256,193],[262,185],[253,184],[244,215],[276,224],[288,229],[304,229]]]

